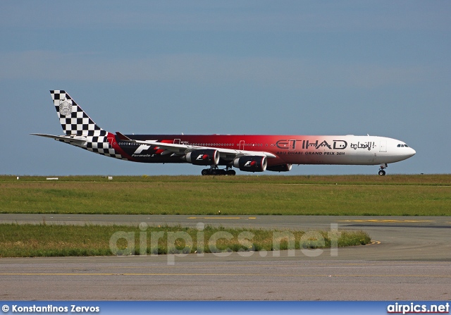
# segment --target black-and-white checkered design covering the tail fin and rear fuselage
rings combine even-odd
[[[66,91],[55,89],[51,90],[50,94],[66,135],[86,137],[87,142],[82,146],[83,149],[116,159],[125,159],[109,144],[108,132],[96,125]]]

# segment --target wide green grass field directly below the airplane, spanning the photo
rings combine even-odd
[[[450,216],[451,175],[0,176],[0,212]]]

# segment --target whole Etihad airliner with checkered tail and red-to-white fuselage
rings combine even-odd
[[[288,172],[293,164],[379,165],[416,153],[405,142],[356,135],[123,135],[103,130],[64,90],[51,90],[65,135],[32,133],[115,159],[143,163],[191,163],[202,175]],[[219,168],[224,166],[225,168]]]

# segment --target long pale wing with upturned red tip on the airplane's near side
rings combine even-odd
[[[157,140],[133,140],[129,137],[123,135],[121,132],[116,132],[116,135],[118,135],[119,139],[124,142],[135,142],[140,144],[149,144],[152,147],[157,147],[157,149],[164,149],[166,150],[162,154],[178,154],[178,155],[185,155],[189,152],[192,152],[194,150],[198,149],[215,149],[218,150],[219,155],[223,159],[235,159],[240,156],[245,155],[252,155],[252,156],[266,156],[269,159],[276,158],[277,156],[269,153],[269,152],[263,152],[263,151],[247,151],[247,150],[235,150],[235,149],[224,149],[224,148],[216,148],[216,147],[202,147],[202,146],[195,146],[195,145],[187,145],[187,144],[173,144],[173,143],[163,143],[158,142]]]

